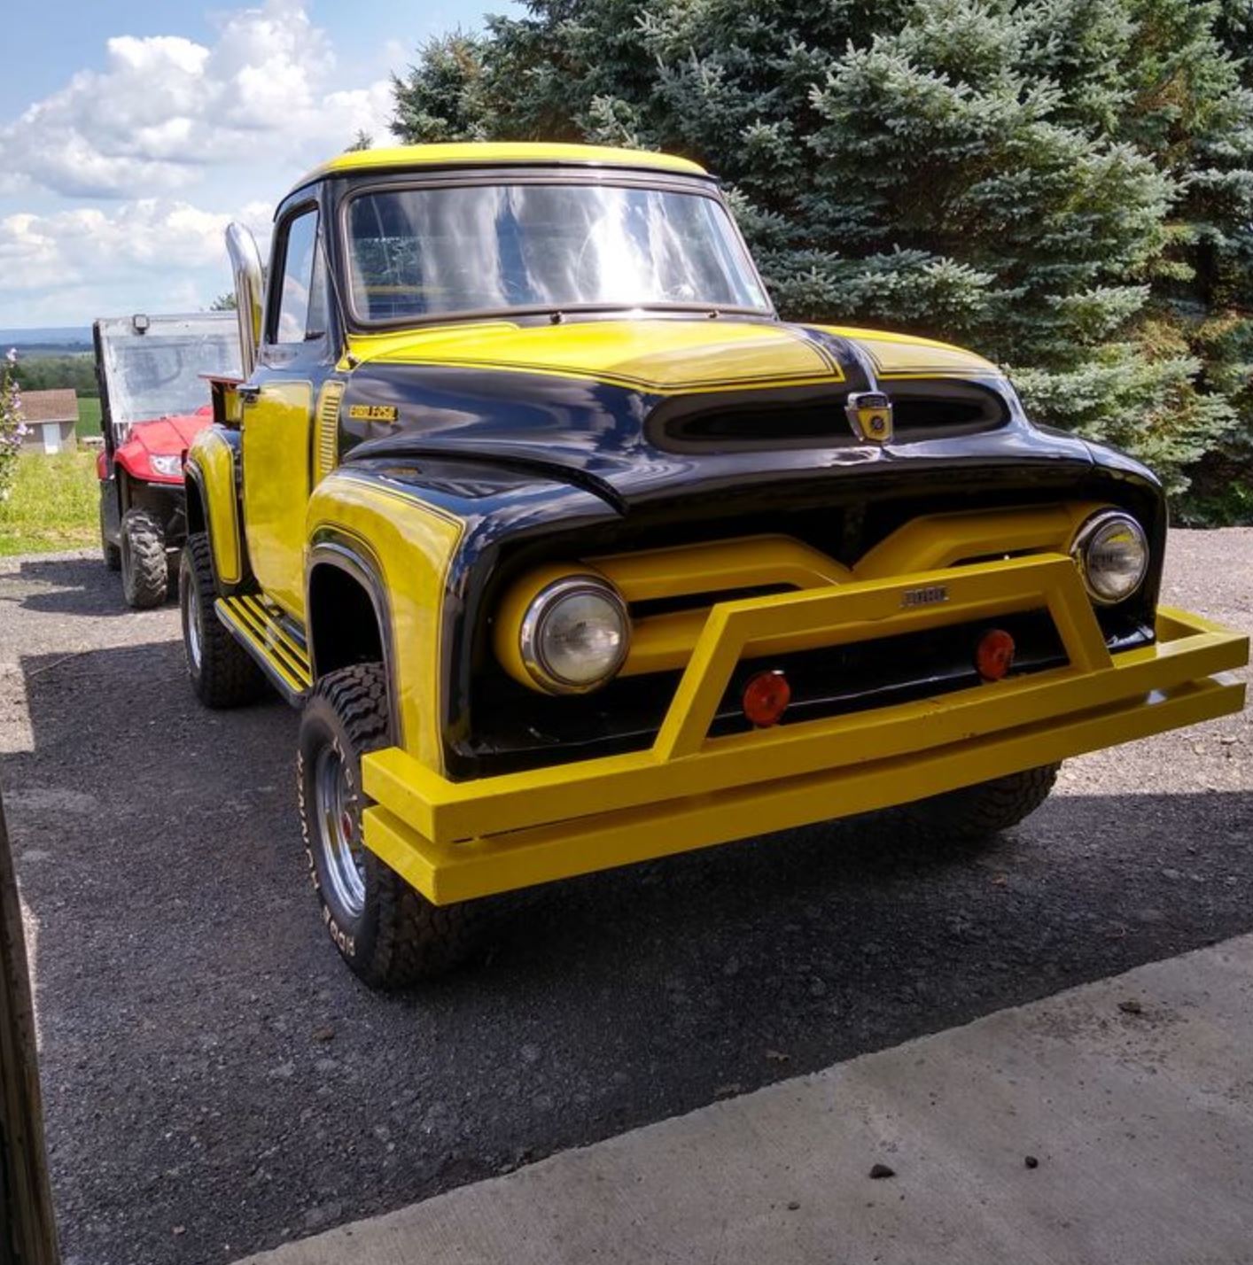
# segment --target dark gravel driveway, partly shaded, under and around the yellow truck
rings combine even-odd
[[[1168,600],[1253,629],[1253,531]],[[199,708],[177,611],[0,560],[0,784],[68,1265],[224,1261],[1253,930],[1248,713],[1085,756],[983,851],[882,820],[548,889],[438,987],[356,983],[296,716]]]

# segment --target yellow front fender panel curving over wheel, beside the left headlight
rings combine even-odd
[[[310,565],[324,541],[358,544],[359,563],[373,577],[376,611],[386,610],[383,644],[401,745],[437,772],[444,763],[444,595],[463,530],[462,519],[419,490],[343,467],[314,490],[305,517]]]

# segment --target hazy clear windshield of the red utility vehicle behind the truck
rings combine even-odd
[[[186,416],[208,405],[201,373],[239,376],[234,312],[151,316],[144,334],[129,316],[101,321],[100,349],[119,439],[135,421]]]

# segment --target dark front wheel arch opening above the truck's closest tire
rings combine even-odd
[[[315,682],[340,668],[382,663],[391,740],[400,743],[387,586],[377,555],[356,533],[330,526],[314,533],[305,563],[305,636]]]

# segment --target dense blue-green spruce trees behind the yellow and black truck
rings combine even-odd
[[[394,128],[689,154],[785,315],[973,345],[1185,516],[1248,503],[1253,0],[528,0]]]

